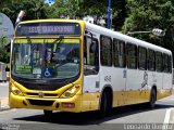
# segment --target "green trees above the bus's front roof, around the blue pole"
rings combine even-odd
[[[112,0],[113,27],[121,29],[125,20],[125,0]],[[105,0],[57,0],[48,8],[50,18],[79,18],[90,15],[96,21],[107,18],[108,1]]]

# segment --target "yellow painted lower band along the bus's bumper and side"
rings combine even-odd
[[[172,94],[172,90],[158,90],[157,100],[169,96],[171,94]],[[98,93],[84,93],[84,94],[75,95],[72,99],[57,99],[52,106],[44,107],[44,106],[30,105],[27,102],[27,99],[25,96],[17,96],[11,93],[9,104],[11,107],[18,107],[18,108],[34,108],[34,109],[64,110],[64,112],[79,113],[79,112],[99,109],[100,99],[101,99],[100,96],[101,96],[101,93],[99,92]],[[34,98],[34,99],[39,100],[38,98]],[[46,100],[51,100],[51,99],[46,99]],[[27,103],[27,106],[23,104],[24,101]],[[145,103],[149,101],[150,101],[149,90],[113,92],[113,107]],[[62,102],[75,103],[76,107],[75,108],[63,108],[62,106],[60,106],[59,108],[55,108],[57,103],[61,104]]]

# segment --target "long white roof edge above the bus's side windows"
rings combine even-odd
[[[113,31],[111,29],[108,29],[108,28],[104,28],[104,27],[101,27],[101,26],[98,26],[98,25],[95,25],[95,24],[85,23],[85,25],[86,25],[86,29],[88,29],[90,31],[94,31],[94,32],[97,32],[97,34],[100,34],[100,35],[104,35],[104,36],[109,36],[111,38],[123,40],[125,42],[134,43],[134,44],[140,46],[140,47],[145,47],[145,48],[148,48],[148,49],[156,50],[156,51],[172,54],[172,52],[170,50],[164,49],[164,48],[159,47],[159,46],[156,46],[156,44],[152,44],[152,43],[149,43],[147,41],[142,41],[142,40],[133,38],[133,37],[127,36],[127,35],[123,35],[123,34],[117,32],[117,31]]]

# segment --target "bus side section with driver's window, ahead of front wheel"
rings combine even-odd
[[[84,42],[84,87],[83,108],[86,110],[97,109],[99,99],[99,44],[98,39],[85,37]]]

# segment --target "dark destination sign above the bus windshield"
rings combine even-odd
[[[32,23],[17,26],[15,36],[80,35],[79,24],[75,23]]]

